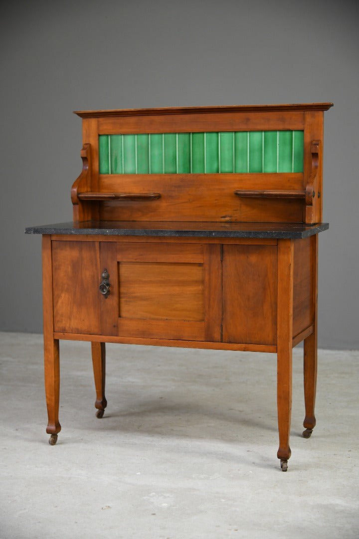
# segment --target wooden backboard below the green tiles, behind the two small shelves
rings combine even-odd
[[[302,174],[103,175],[100,192],[160,192],[152,201],[103,201],[101,220],[175,222],[300,222],[301,199],[249,199],[237,189],[303,189]],[[252,176],[251,178],[249,176]]]

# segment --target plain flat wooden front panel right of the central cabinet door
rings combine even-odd
[[[223,246],[223,342],[276,344],[277,246]]]

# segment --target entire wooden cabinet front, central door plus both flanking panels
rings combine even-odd
[[[276,344],[276,245],[55,240],[52,273],[59,333]]]

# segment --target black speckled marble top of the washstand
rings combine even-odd
[[[83,221],[29,226],[26,234],[89,234],[90,236],[163,236],[183,238],[307,238],[329,228],[328,223],[188,223]]]

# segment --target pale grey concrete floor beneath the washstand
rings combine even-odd
[[[275,354],[108,345],[97,419],[90,345],[62,341],[51,447],[42,336],[2,333],[0,349],[1,539],[359,537],[358,352],[320,350],[306,440],[294,349],[283,473]]]

